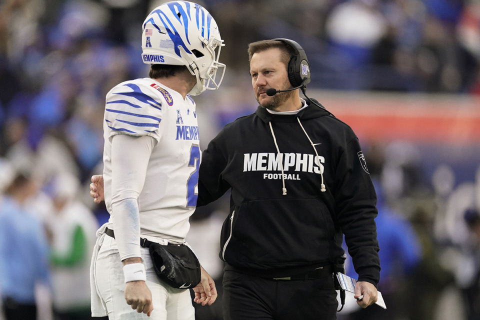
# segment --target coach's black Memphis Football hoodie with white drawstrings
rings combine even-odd
[[[258,106],[225,125],[202,154],[197,205],[229,188],[227,267],[293,275],[341,256],[343,233],[358,280],[377,285],[375,190],[358,138],[323,108],[285,115]]]

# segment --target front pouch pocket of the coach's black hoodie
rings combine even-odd
[[[328,258],[334,235],[330,212],[316,198],[242,202],[232,212],[229,227],[223,259],[226,253],[238,262],[258,267]]]

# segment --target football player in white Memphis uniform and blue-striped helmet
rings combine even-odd
[[[173,287],[160,280],[147,246],[188,251],[185,237],[200,164],[190,95],[218,88],[223,40],[205,8],[171,1],[147,15],[141,42],[149,77],[121,82],[106,95],[103,176],[110,217],[97,231],[92,256],[92,315],[192,320],[190,282]],[[194,300],[211,304],[217,296],[214,281],[201,266],[195,269],[201,277],[192,284]]]

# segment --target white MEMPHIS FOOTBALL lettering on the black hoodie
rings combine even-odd
[[[263,179],[281,179],[281,171],[295,171],[284,173],[287,180],[299,180],[300,175],[296,172],[323,173],[325,158],[308,153],[243,153],[243,172],[245,171],[275,171],[263,173]]]

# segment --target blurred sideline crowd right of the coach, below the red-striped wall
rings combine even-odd
[[[367,146],[387,309],[351,299],[340,320],[480,318],[480,165],[471,180],[456,181],[446,163],[427,179],[421,154],[405,141]],[[348,258],[346,273],[356,278]]]

